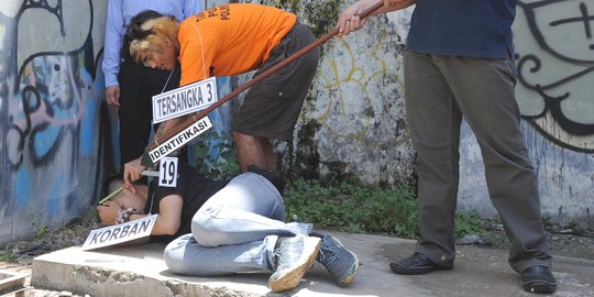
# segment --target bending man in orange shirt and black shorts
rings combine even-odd
[[[170,16],[132,22],[128,32],[132,36],[130,54],[136,63],[173,69],[179,59],[180,86],[256,69],[257,76],[316,40],[295,14],[250,3],[216,7],[182,23]],[[319,48],[314,48],[248,91],[233,121],[233,140],[243,172],[250,165],[276,169],[270,140],[289,140],[319,56]],[[162,123],[156,136],[184,120],[182,117]],[[124,177],[140,177],[140,158],[128,167]]]

